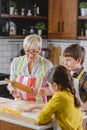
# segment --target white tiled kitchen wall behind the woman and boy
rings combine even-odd
[[[65,47],[70,44],[79,43],[87,50],[87,40],[55,40],[55,39],[44,39],[43,47],[51,43],[56,47],[60,46],[62,52]],[[12,59],[20,55],[20,50],[22,49],[23,40],[22,39],[0,39],[0,73],[9,73],[10,64]],[[62,55],[61,52],[61,55]],[[87,54],[84,62],[84,67],[87,70]]]

